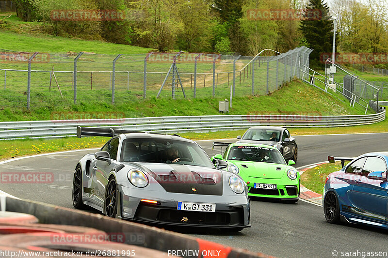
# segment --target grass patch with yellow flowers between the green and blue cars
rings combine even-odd
[[[346,161],[345,165],[348,163],[349,162]],[[337,161],[335,164],[326,163],[321,166],[310,168],[301,175],[301,183],[311,191],[316,192],[318,194],[322,194],[326,177],[330,173],[339,171],[340,169],[340,161]]]

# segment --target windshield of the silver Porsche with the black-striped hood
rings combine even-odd
[[[208,155],[193,142],[155,138],[123,141],[120,161],[172,163],[214,168]]]

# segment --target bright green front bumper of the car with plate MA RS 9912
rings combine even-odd
[[[281,200],[296,200],[300,194],[300,179],[266,179],[266,178],[253,178],[248,180],[248,196],[252,197],[269,197]],[[271,189],[256,189],[254,183],[266,183],[276,184],[276,190]]]

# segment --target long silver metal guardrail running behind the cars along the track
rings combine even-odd
[[[185,133],[246,129],[251,126],[335,127],[383,121],[384,112],[370,115],[217,115],[145,117],[101,120],[0,122],[0,139],[75,136],[77,126],[104,126],[125,130]]]

